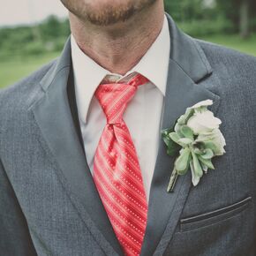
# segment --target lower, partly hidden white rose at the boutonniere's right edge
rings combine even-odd
[[[226,146],[226,140],[219,129],[215,129],[212,132],[201,133],[196,139],[196,142],[204,142],[206,144],[207,142],[213,143],[215,147],[212,149],[215,155],[222,155],[225,153],[224,147]]]

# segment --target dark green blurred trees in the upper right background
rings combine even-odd
[[[216,20],[222,19],[223,32],[229,27],[229,31],[239,33],[243,38],[253,27],[256,29],[255,0],[165,0],[164,3],[166,11],[177,22],[207,20],[212,26],[219,26],[220,23],[215,25]]]

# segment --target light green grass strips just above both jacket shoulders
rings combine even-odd
[[[256,34],[246,40],[241,39],[238,35],[225,34],[210,35],[200,39],[256,56]],[[26,75],[34,72],[41,65],[47,64],[58,55],[59,53],[51,53],[43,56],[10,57],[10,59],[0,60],[0,88],[7,87],[26,77]]]

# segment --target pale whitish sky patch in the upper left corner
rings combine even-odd
[[[0,0],[0,26],[31,24],[50,14],[67,17],[60,0]]]

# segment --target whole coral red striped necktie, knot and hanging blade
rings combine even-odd
[[[138,156],[123,114],[139,85],[139,74],[128,83],[100,85],[95,96],[107,118],[94,155],[94,182],[125,255],[139,255],[147,224],[147,200]]]

